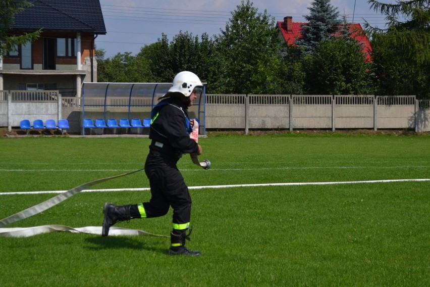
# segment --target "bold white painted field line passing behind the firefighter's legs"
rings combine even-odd
[[[291,185],[328,185],[328,184],[355,184],[355,183],[385,183],[385,182],[404,182],[404,181],[430,181],[430,178],[412,178],[412,179],[383,179],[383,180],[360,180],[360,181],[328,181],[328,182],[281,182],[281,183],[255,183],[255,184],[228,184],[228,185],[202,185],[189,186],[189,189],[203,188],[234,188],[234,187],[255,187],[255,186],[291,186]],[[85,189],[83,193],[101,193],[101,192],[128,192],[128,191],[144,191],[149,190],[149,187],[144,188],[112,188],[112,189]],[[45,192],[10,192],[0,193],[4,195],[37,195],[37,194],[61,194],[67,190],[52,190]]]

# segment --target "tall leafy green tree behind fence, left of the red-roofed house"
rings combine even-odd
[[[247,0],[237,6],[225,30],[216,36],[217,82],[214,92],[266,93],[276,90],[274,77],[280,63],[275,20],[258,13]],[[275,88],[274,88],[275,87]]]

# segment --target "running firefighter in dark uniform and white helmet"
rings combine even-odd
[[[194,120],[188,118],[188,107],[201,94],[203,84],[192,72],[178,73],[169,91],[151,111],[149,154],[145,162],[145,173],[149,179],[151,199],[149,202],[116,206],[104,205],[102,236],[119,221],[133,218],[164,216],[173,208],[173,230],[169,255],[200,255],[185,247],[189,240],[187,229],[191,217],[191,197],[176,163],[182,154],[201,155],[202,149],[189,133]]]

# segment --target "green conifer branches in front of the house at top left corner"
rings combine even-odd
[[[33,4],[25,0],[0,0],[0,57],[6,52],[15,52],[18,45],[33,42],[39,37],[41,29],[22,35],[9,34],[15,15],[31,6]]]

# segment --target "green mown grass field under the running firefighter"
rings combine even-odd
[[[192,186],[430,178],[430,135],[217,134]],[[68,190],[143,167],[148,138],[0,138],[0,193]],[[143,172],[94,189],[148,187]],[[1,286],[428,286],[430,181],[190,189],[191,250],[170,239],[69,232],[0,237]],[[0,195],[0,219],[54,194]],[[99,226],[104,202],[147,191],[79,193],[6,227]],[[119,227],[168,235],[171,212]]]

